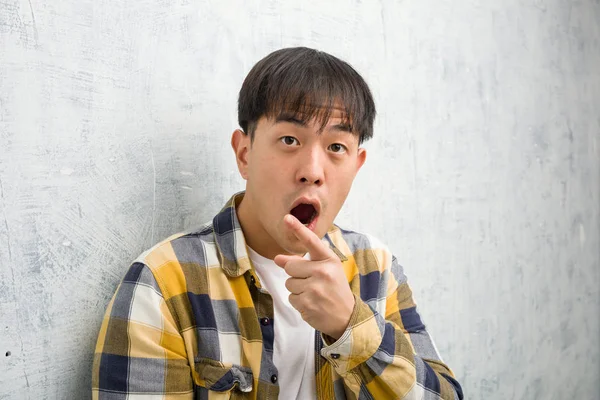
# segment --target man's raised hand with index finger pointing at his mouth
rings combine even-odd
[[[284,223],[307,248],[310,260],[278,255],[275,264],[290,276],[285,287],[290,304],[310,326],[335,340],[344,333],[354,309],[354,296],[339,257],[293,215]]]

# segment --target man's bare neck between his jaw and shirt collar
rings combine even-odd
[[[236,213],[246,244],[261,256],[274,259],[278,254],[289,254],[265,230],[252,202],[252,196],[247,192],[236,206]]]

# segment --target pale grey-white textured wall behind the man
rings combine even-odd
[[[306,45],[379,109],[338,223],[383,239],[469,399],[600,398],[600,3],[4,0],[0,399],[89,398],[139,253],[237,190],[245,74]]]

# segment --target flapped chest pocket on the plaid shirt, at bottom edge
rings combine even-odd
[[[199,393],[207,394],[208,399],[243,399],[252,391],[252,370],[241,365],[222,363],[202,358],[194,363]],[[205,398],[200,396],[199,398]]]

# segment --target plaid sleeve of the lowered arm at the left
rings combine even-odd
[[[184,340],[150,269],[133,263],[102,321],[92,398],[192,399]]]

